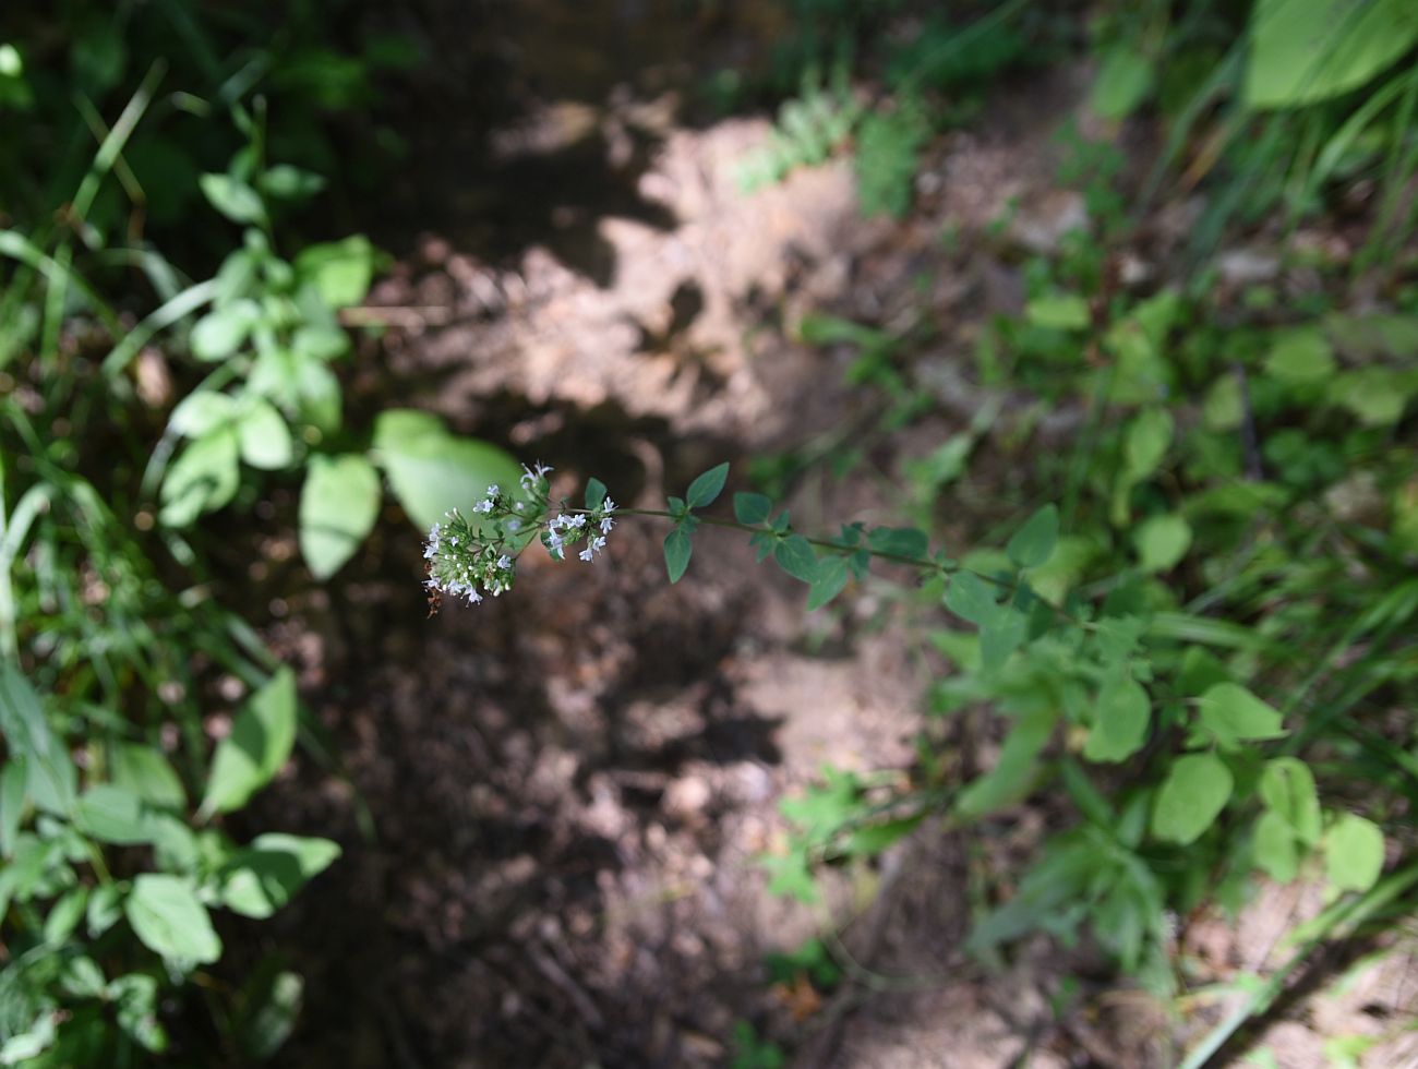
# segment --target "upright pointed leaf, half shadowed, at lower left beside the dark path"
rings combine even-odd
[[[204,817],[240,810],[271,781],[291,756],[295,723],[295,672],[281,668],[247,699],[231,734],[217,743],[201,801]]]

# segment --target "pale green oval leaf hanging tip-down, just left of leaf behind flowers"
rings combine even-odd
[[[379,517],[379,474],[362,455],[315,454],[301,488],[301,556],[311,574],[326,580],[339,571]]]

